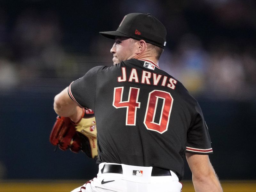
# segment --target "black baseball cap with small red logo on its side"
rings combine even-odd
[[[100,32],[100,34],[110,39],[115,39],[116,36],[143,39],[162,48],[166,44],[164,25],[150,13],[129,13],[124,16],[116,31]]]

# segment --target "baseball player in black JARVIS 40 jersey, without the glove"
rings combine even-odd
[[[158,66],[164,25],[130,13],[100,34],[115,40],[114,65],[92,68],[54,98],[59,116],[79,122],[90,108],[97,124],[99,172],[72,192],[178,192],[185,156],[197,192],[222,191],[198,102]]]

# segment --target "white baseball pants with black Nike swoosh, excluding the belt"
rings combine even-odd
[[[123,173],[102,173],[99,164],[97,177],[71,192],[181,192],[182,184],[177,175],[151,176],[152,167],[122,165]],[[112,164],[111,164],[112,165]]]

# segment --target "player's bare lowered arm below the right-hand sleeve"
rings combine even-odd
[[[186,153],[186,158],[196,192],[222,192],[220,181],[208,155]]]

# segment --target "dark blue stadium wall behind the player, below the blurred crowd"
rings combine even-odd
[[[84,153],[54,152],[49,142],[56,119],[53,97],[60,90],[0,96],[0,162],[6,169],[4,179],[90,179],[96,175],[95,162]],[[198,101],[212,139],[214,154],[210,159],[220,179],[256,179],[256,103]],[[190,178],[186,166],[184,179]]]

